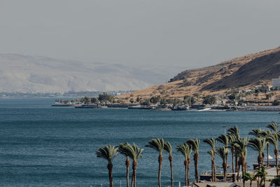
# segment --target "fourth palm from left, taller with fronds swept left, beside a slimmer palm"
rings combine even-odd
[[[145,147],[153,148],[160,153],[160,155],[158,156],[158,186],[161,187],[162,185],[160,183],[160,176],[162,172],[163,161],[162,151],[164,151],[165,148],[165,141],[162,138],[151,139],[150,141],[148,141],[148,145],[146,145]]]

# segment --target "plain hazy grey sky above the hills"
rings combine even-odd
[[[279,0],[0,1],[0,53],[189,68],[278,46]]]

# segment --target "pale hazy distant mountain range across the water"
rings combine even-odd
[[[0,92],[141,90],[167,82],[179,70],[167,69],[0,54]]]

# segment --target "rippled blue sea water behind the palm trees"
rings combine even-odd
[[[189,138],[217,137],[223,134],[223,125],[238,125],[243,137],[253,128],[280,120],[278,112],[74,109],[51,107],[53,101],[0,99],[0,186],[109,186],[107,163],[96,157],[97,148],[125,141],[144,148],[155,137],[164,137],[174,147],[174,186],[178,186],[184,181],[184,165],[175,146]],[[144,149],[137,186],[158,186],[158,153]],[[207,151],[209,147],[202,142],[200,171],[211,169]],[[257,156],[248,148],[248,165]],[[168,154],[164,157],[162,186],[168,186]],[[230,160],[229,156],[229,165]],[[193,160],[190,165],[193,180]],[[114,186],[125,186],[125,172],[125,157],[118,155],[113,160]]]

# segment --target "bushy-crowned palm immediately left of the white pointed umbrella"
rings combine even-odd
[[[263,165],[263,151],[265,150],[265,146],[267,145],[267,141],[265,138],[256,137],[255,139],[250,139],[249,146],[258,151],[258,168],[262,167]]]

